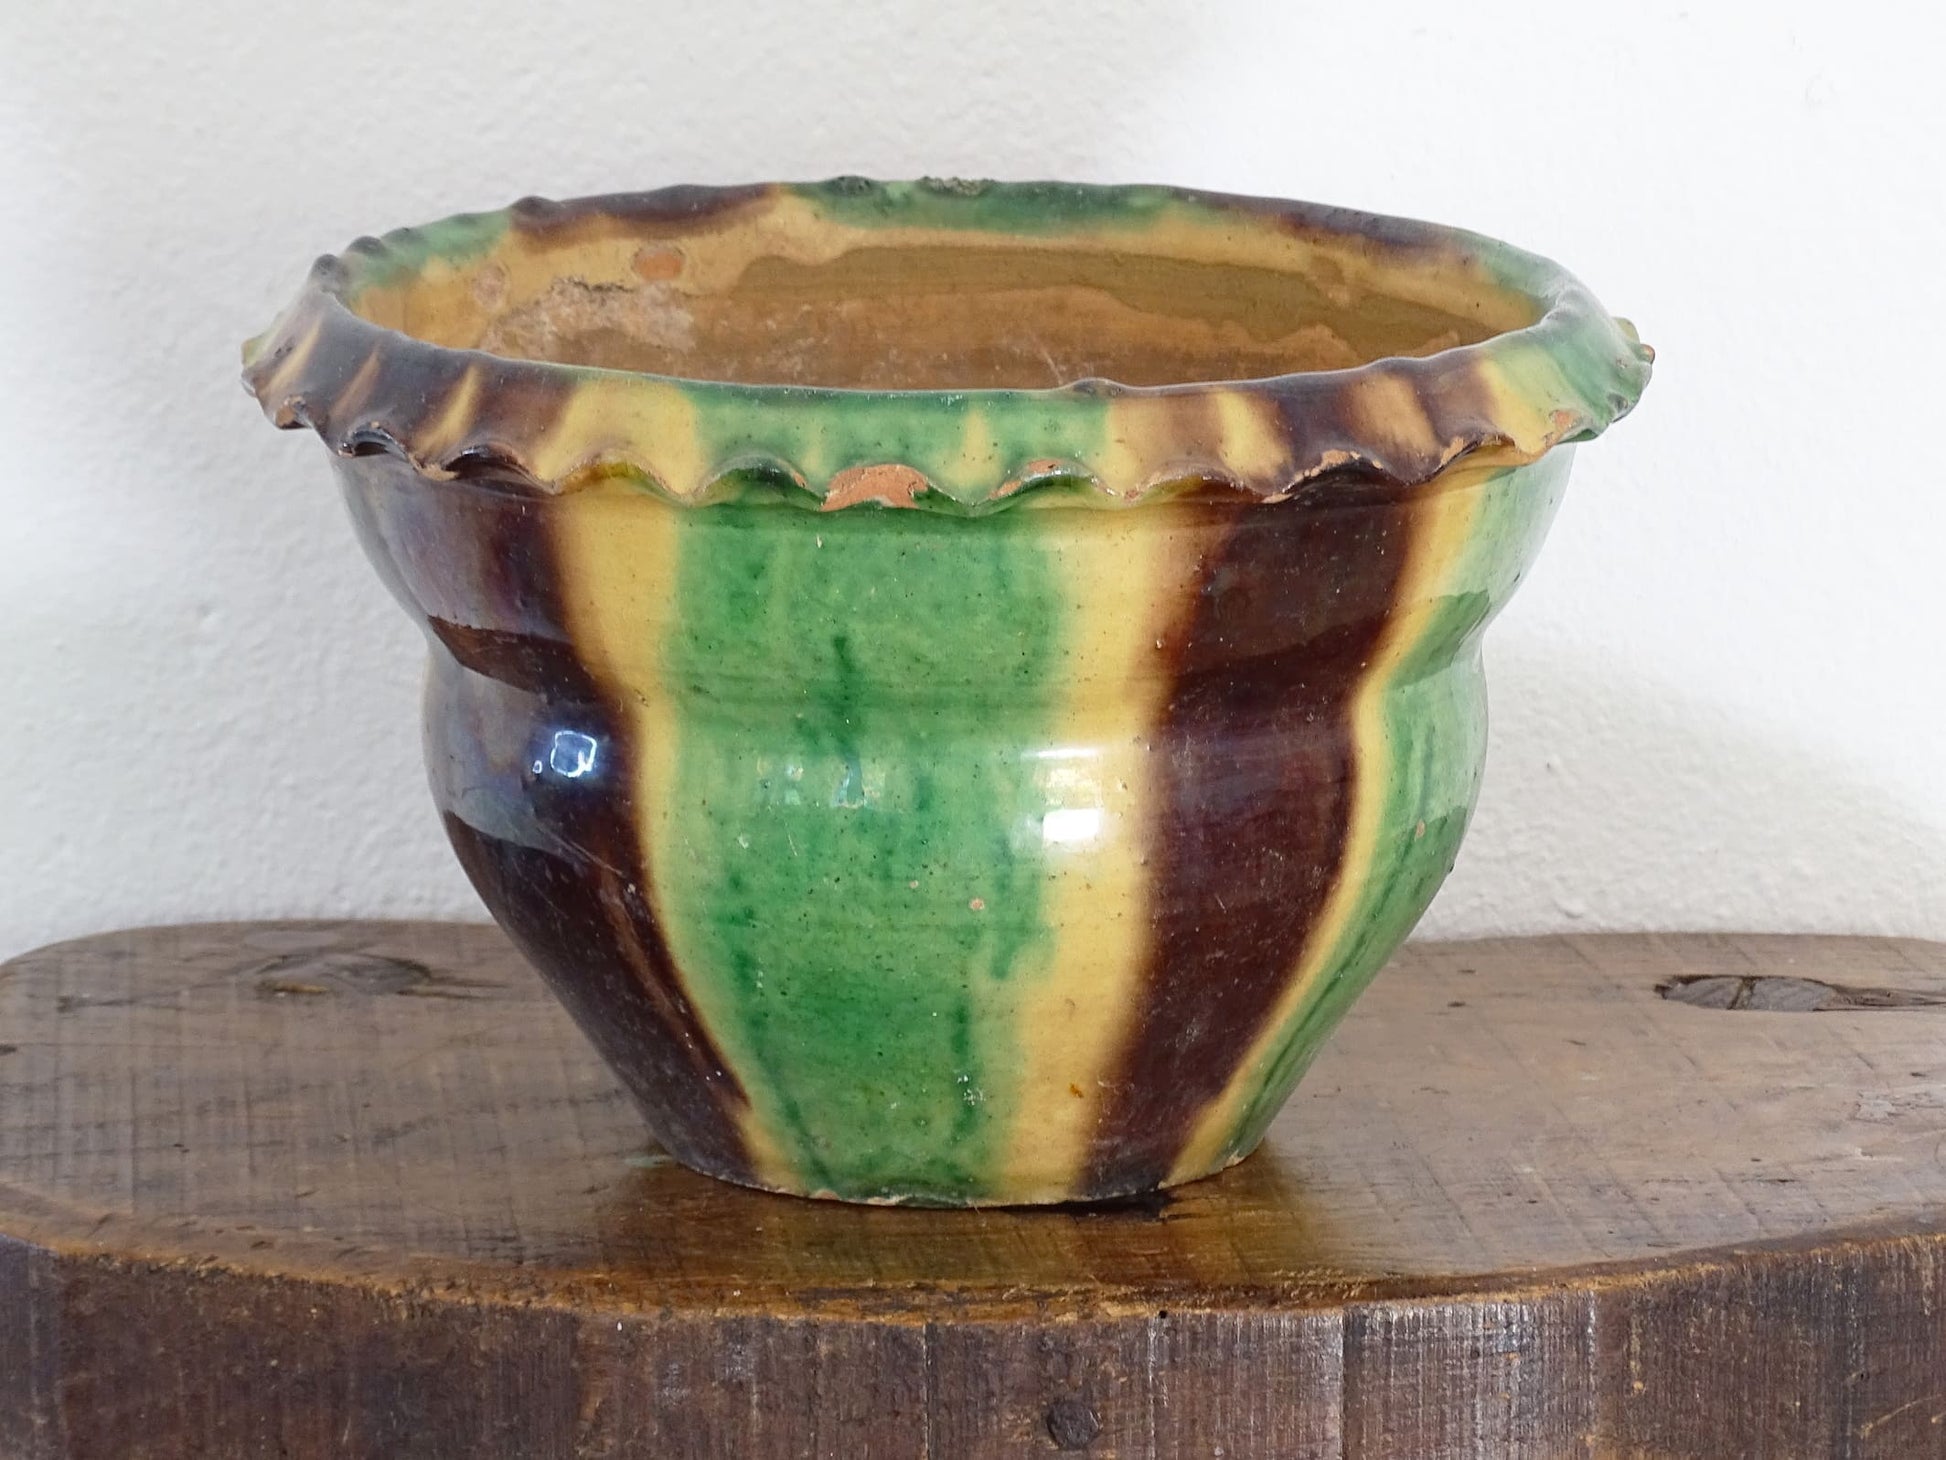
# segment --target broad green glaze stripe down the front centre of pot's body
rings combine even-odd
[[[790,522],[677,533],[666,923],[804,1186],[975,1199],[1020,1104],[1006,985],[1047,956],[1020,748],[1063,598],[1031,518]]]

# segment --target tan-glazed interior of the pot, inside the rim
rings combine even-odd
[[[1436,354],[1535,317],[1477,278],[1423,273],[1411,298],[1280,239],[1226,259],[1138,237],[887,232],[516,236],[360,313],[525,360],[856,389],[1257,380]]]

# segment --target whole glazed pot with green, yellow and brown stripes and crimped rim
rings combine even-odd
[[[1454,862],[1481,629],[1648,360],[1446,228],[841,179],[360,239],[245,378],[667,1150],[957,1205],[1257,1145]]]

